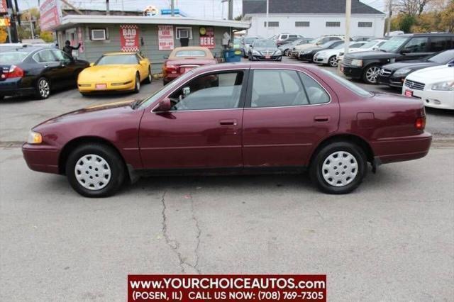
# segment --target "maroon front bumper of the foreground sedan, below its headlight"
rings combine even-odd
[[[42,145],[22,145],[23,159],[33,171],[58,174],[60,150]]]

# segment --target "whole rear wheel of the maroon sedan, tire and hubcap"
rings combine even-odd
[[[346,194],[356,189],[367,173],[365,153],[350,142],[323,147],[311,162],[311,179],[328,194]]]

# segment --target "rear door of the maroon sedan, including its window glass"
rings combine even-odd
[[[251,69],[243,116],[245,167],[299,167],[338,129],[336,94],[314,74]]]

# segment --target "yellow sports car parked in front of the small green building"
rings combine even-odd
[[[110,52],[79,73],[77,88],[82,95],[102,91],[140,90],[140,82],[151,83],[150,61],[138,52]]]

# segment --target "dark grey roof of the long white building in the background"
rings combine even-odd
[[[243,15],[266,13],[267,1],[243,0]],[[269,0],[269,13],[345,13],[341,0]],[[352,13],[383,14],[359,0],[352,0]]]

